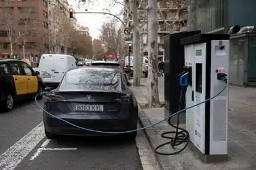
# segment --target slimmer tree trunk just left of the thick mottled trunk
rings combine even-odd
[[[140,33],[137,0],[132,0],[133,52],[134,52],[134,86],[140,86]]]

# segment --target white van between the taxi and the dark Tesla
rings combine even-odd
[[[78,68],[75,57],[66,54],[43,54],[38,71],[43,83],[49,87],[57,87],[67,70]]]

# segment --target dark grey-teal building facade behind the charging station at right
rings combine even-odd
[[[228,33],[234,25],[256,26],[254,0],[200,0],[189,6],[189,31]],[[242,31],[242,29],[241,29]],[[241,86],[256,86],[256,31],[231,34],[229,52],[229,82]]]

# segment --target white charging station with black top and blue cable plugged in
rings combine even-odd
[[[196,34],[181,39],[189,72],[186,108],[218,94],[229,73],[229,35]],[[186,111],[189,147],[204,163],[228,160],[228,83],[220,95]]]

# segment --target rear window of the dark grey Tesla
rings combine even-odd
[[[120,91],[121,75],[111,68],[78,69],[67,72],[60,89],[63,90],[103,90]]]

